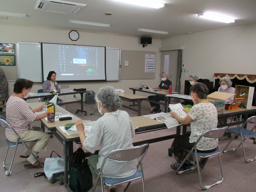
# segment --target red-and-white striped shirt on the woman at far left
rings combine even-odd
[[[30,122],[35,119],[36,114],[25,100],[16,96],[9,97],[6,103],[6,120],[18,134],[30,130]],[[15,135],[10,128],[6,128],[5,133]]]

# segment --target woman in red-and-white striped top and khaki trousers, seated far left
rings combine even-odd
[[[28,97],[30,89],[34,82],[27,79],[17,79],[14,88],[13,95],[9,97],[6,103],[6,121],[13,127],[13,129],[19,134],[20,138],[24,141],[39,140],[36,143],[28,144],[28,148],[33,150],[35,156],[40,151],[46,151],[49,134],[43,132],[41,127],[30,127],[30,122],[37,121],[47,116],[47,112],[42,114],[35,114],[42,110],[44,105],[39,106],[36,109],[31,109],[28,103],[23,100]],[[5,129],[6,138],[16,143],[17,136],[12,132],[10,128]],[[24,155],[20,155],[21,158],[27,158],[30,164],[24,164],[24,167],[28,168],[39,168],[40,165],[37,163],[34,156],[26,149],[23,152]]]

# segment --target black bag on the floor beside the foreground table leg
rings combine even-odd
[[[82,145],[74,152],[74,163],[71,168],[69,187],[74,192],[87,192],[92,188],[92,172],[84,157]]]

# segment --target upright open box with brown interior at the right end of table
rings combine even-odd
[[[243,97],[244,101],[239,105],[241,108],[250,109],[252,108],[254,87],[236,85],[235,93],[236,97]]]

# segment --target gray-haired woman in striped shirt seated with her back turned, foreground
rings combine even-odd
[[[98,110],[102,117],[92,126],[88,135],[85,136],[84,125],[81,120],[76,121],[76,128],[86,151],[92,154],[99,147],[99,155],[91,155],[88,164],[93,177],[97,174],[93,168],[98,170],[102,164],[104,156],[115,149],[132,147],[132,137],[135,135],[134,125],[128,113],[119,108],[122,102],[115,92],[114,87],[107,86],[99,89],[95,96]],[[104,168],[104,177],[129,177],[137,170],[137,160],[117,161],[107,159]],[[101,186],[100,182],[97,184]],[[110,191],[108,186],[104,185],[105,191]],[[123,184],[116,185],[115,192],[123,192]]]

